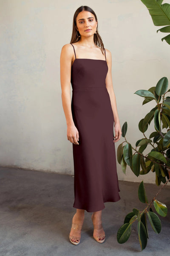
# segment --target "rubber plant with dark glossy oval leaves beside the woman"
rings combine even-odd
[[[158,215],[153,212],[151,208],[152,203],[159,215],[163,217],[167,215],[166,205],[156,200],[156,196],[170,181],[170,96],[167,96],[170,90],[167,90],[167,88],[168,79],[167,77],[162,77],[156,84],[156,87],[151,87],[148,90],[137,90],[135,92],[136,95],[144,97],[142,105],[154,100],[156,101],[156,106],[139,122],[139,130],[142,132],[143,138],[137,140],[136,147],[132,147],[126,140],[127,122],[125,122],[122,126],[122,137],[125,137],[125,141],[117,148],[117,160],[118,163],[121,164],[124,173],[128,165],[137,177],[139,175],[146,175],[151,171],[155,173],[157,186],[159,186],[161,182],[164,183],[149,204],[144,189],[144,183],[143,181],[140,183],[138,197],[139,200],[147,204],[147,206],[141,212],[139,209],[134,208],[132,212],[128,213],[125,217],[124,224],[117,232],[117,241],[120,244],[125,243],[130,237],[133,222],[137,220],[138,236],[142,250],[146,247],[149,237],[146,216],[153,230],[157,234],[161,231],[161,221]],[[145,132],[152,120],[155,131],[153,131],[148,138]],[[165,131],[163,131],[164,129]],[[124,143],[126,144],[123,145]],[[148,145],[152,146],[152,150],[148,154],[144,154],[144,150]],[[148,208],[149,211],[147,210]]]

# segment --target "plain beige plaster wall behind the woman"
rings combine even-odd
[[[168,2],[168,1],[167,1]],[[0,0],[0,164],[74,174],[72,144],[62,109],[59,57],[70,43],[73,15],[81,5],[98,17],[99,33],[112,53],[113,88],[127,140],[142,138],[138,123],[154,106],[142,107],[134,92],[170,81],[170,46],[161,42],[140,0]],[[154,131],[153,123],[150,131]],[[149,133],[148,133],[149,134]],[[117,146],[123,138],[116,143]],[[136,178],[130,169],[119,180]]]

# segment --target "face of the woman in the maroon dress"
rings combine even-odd
[[[97,21],[91,12],[82,11],[77,15],[77,30],[81,36],[91,36],[96,32]],[[88,29],[88,30],[87,30]]]

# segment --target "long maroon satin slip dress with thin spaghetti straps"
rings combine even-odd
[[[96,212],[105,208],[105,202],[120,199],[114,116],[105,83],[108,65],[106,53],[105,60],[76,58],[75,49],[74,54],[71,111],[79,132],[79,145],[73,143],[73,207]]]

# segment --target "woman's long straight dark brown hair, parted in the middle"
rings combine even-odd
[[[73,17],[73,31],[72,31],[72,36],[71,36],[71,42],[70,44],[72,43],[75,43],[75,42],[78,42],[80,40],[79,37],[77,37],[77,34],[79,33],[76,29],[76,26],[77,26],[77,23],[76,23],[76,19],[77,19],[77,15],[79,14],[79,12],[82,12],[82,11],[87,11],[87,12],[91,12],[94,17],[95,17],[95,20],[97,21],[97,17],[96,17],[96,14],[94,12],[94,10],[92,10],[90,7],[88,6],[80,6],[76,12],[74,13],[74,17]],[[97,30],[98,30],[98,22],[97,22]],[[77,33],[76,33],[77,32]],[[97,32],[96,34],[94,34],[94,43],[101,47],[101,50],[102,50],[102,53],[104,54],[104,44],[102,42],[102,38],[101,36],[99,35],[99,32]]]

